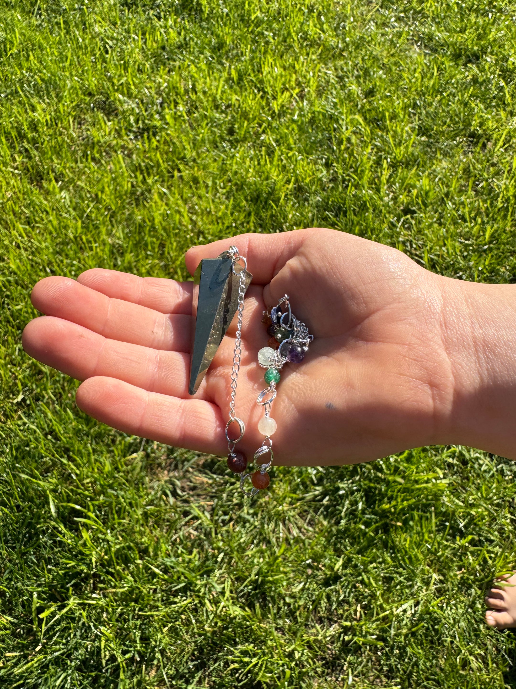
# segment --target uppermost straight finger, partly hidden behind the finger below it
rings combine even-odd
[[[183,313],[186,316],[192,313],[193,282],[140,278],[104,268],[92,268],[81,273],[77,282],[111,299],[139,304],[160,313]]]

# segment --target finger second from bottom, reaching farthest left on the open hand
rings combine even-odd
[[[189,355],[109,340],[81,325],[41,316],[23,331],[23,349],[47,366],[77,380],[118,378],[144,390],[187,397]],[[206,384],[195,395],[205,399]]]

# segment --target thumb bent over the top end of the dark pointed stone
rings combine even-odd
[[[287,261],[295,256],[308,236],[308,230],[297,229],[280,234],[240,234],[186,251],[186,267],[191,274],[203,258],[215,258],[235,245],[247,260],[255,285],[267,285]]]

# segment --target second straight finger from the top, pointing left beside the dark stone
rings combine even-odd
[[[190,351],[191,316],[166,315],[85,287],[76,280],[52,276],[40,280],[31,300],[47,316],[65,318],[99,335],[152,349]]]

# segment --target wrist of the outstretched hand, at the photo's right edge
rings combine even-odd
[[[516,289],[439,279],[453,381],[444,442],[516,459]]]

